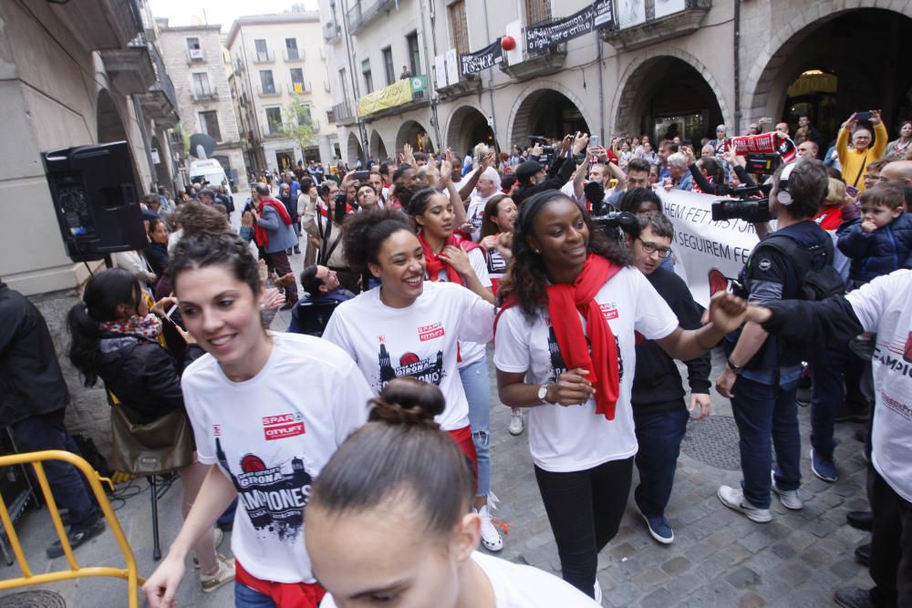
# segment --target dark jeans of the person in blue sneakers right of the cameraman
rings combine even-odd
[[[843,380],[857,378],[865,362],[848,348],[827,349],[811,363],[811,445],[824,459],[833,459],[836,412],[843,404]]]

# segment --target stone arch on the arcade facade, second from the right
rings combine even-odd
[[[624,75],[618,82],[615,91],[615,98],[612,101],[612,118],[609,124],[614,126],[614,132],[637,132],[639,123],[637,120],[637,97],[641,94],[644,86],[648,82],[646,77],[650,69],[657,67],[663,61],[669,59],[679,59],[692,67],[700,74],[707,86],[715,93],[716,101],[719,106],[721,120],[727,125],[734,125],[734,114],[722,95],[722,88],[715,77],[712,76],[710,69],[706,67],[699,59],[689,53],[676,47],[663,48],[661,55],[641,55],[637,57],[624,70]],[[730,129],[732,130],[732,129]]]

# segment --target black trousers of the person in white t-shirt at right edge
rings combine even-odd
[[[871,531],[871,600],[878,608],[912,607],[912,503],[890,488],[874,467],[867,473],[874,512]]]

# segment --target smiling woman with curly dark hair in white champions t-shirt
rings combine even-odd
[[[469,404],[457,369],[459,342],[491,341],[494,307],[458,283],[425,282],[424,250],[400,211],[362,211],[346,219],[345,258],[379,288],[339,304],[323,339],[341,346],[375,393],[395,377],[440,386],[447,407],[437,417],[476,463]]]

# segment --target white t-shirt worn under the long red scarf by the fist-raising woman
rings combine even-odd
[[[620,396],[615,419],[596,415],[595,399],[583,406],[530,407],[529,450],[536,466],[555,473],[592,469],[609,460],[627,459],[637,453],[630,392],[637,368],[634,331],[648,340],[670,335],[678,317],[635,268],[624,268],[596,294],[618,345]],[[584,331],[586,320],[580,314]],[[566,371],[547,309],[533,324],[522,309],[503,311],[494,342],[494,366],[504,372],[525,372],[525,381],[541,385],[556,382]]]

